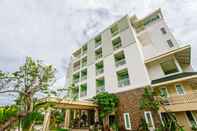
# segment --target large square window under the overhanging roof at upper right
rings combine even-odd
[[[168,60],[160,64],[165,75],[178,72],[178,68],[174,60]]]

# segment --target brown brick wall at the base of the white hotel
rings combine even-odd
[[[123,113],[126,112],[130,115],[132,130],[137,130],[139,127],[141,118],[144,118],[144,111],[139,109],[139,100],[143,93],[144,89],[138,88],[116,94],[120,101],[118,106],[118,117],[121,131],[125,131]],[[157,112],[152,112],[152,115],[155,126],[157,127],[160,124],[159,115]]]

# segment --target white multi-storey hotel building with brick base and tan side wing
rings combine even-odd
[[[165,111],[141,111],[144,87],[166,98],[185,130],[197,123],[197,73],[191,66],[190,45],[181,46],[170,32],[161,10],[145,18],[125,16],[73,52],[68,84],[79,88],[79,100],[99,92],[119,97],[121,130],[134,130],[144,117],[150,128],[165,119]]]

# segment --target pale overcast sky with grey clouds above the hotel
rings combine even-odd
[[[177,41],[191,44],[197,67],[196,7],[196,0],[0,0],[0,70],[15,71],[31,56],[53,64],[63,85],[73,50],[126,14],[158,8]]]

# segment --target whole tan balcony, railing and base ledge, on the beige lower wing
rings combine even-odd
[[[165,98],[162,104],[164,105],[164,108],[160,109],[161,112],[197,110],[197,93],[194,92],[181,96]]]

